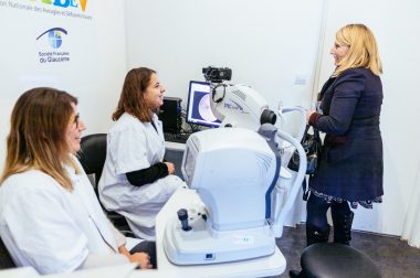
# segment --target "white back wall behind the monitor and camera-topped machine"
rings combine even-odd
[[[272,109],[309,106],[323,0],[128,0],[128,67],[156,70],[167,96],[187,101],[202,67],[232,68],[232,83]]]

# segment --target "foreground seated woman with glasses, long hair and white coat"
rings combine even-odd
[[[154,243],[135,239],[138,253],[127,250],[74,157],[85,130],[76,105],[46,87],[25,92],[14,105],[0,180],[1,238],[17,266],[40,274],[129,261],[151,268]]]

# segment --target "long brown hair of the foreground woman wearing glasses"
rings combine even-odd
[[[77,99],[66,92],[40,87],[23,93],[14,105],[0,182],[14,173],[40,170],[72,190],[65,164],[73,165],[65,136]]]

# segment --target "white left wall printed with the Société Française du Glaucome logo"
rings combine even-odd
[[[9,2],[25,4],[29,9]],[[91,19],[53,15],[48,11],[72,11]],[[6,157],[12,107],[29,88],[52,86],[67,90],[78,97],[81,117],[87,126],[85,133],[108,130],[126,73],[123,1],[88,0],[82,12],[41,1],[0,0],[0,169]],[[48,36],[35,39],[57,26],[69,32],[63,35],[59,50],[70,52],[70,61],[41,64],[39,52],[54,50],[48,44]]]

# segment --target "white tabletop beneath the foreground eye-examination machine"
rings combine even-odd
[[[284,272],[286,260],[283,254],[275,248],[275,253],[267,257],[249,259],[243,261],[200,265],[200,266],[177,266],[171,264],[166,257],[162,237],[166,223],[170,217],[176,217],[180,207],[186,207],[198,199],[196,191],[190,189],[179,189],[166,203],[156,217],[156,252],[158,270],[148,277],[267,277]],[[148,272],[147,275],[151,275]],[[143,278],[141,270],[135,270],[130,278]]]

